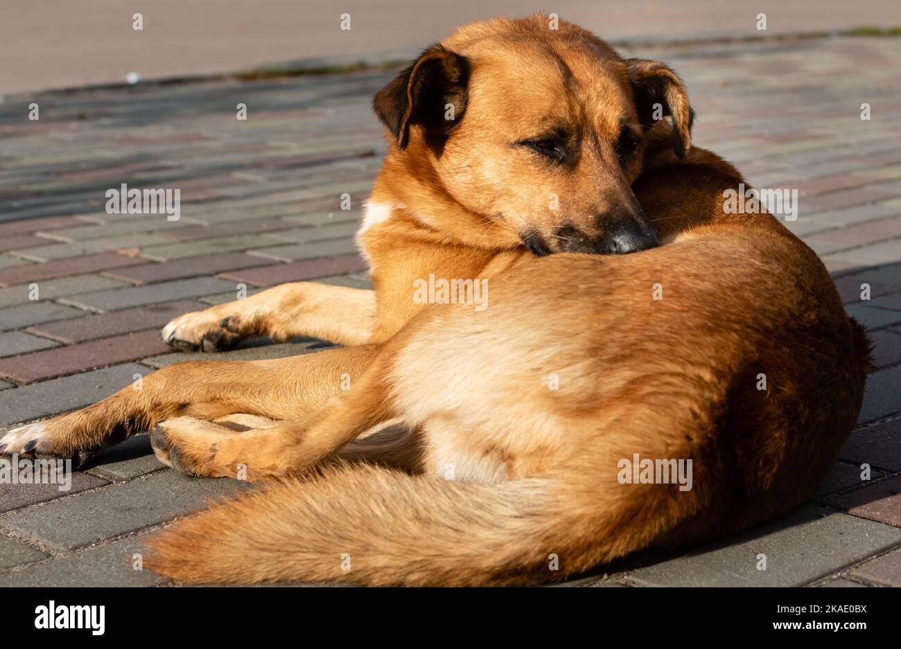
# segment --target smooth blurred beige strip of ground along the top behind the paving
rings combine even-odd
[[[610,41],[891,28],[897,0],[3,0],[0,94],[209,75],[286,63],[406,58],[454,26],[537,9]],[[132,14],[144,29],[132,29]],[[340,29],[350,14],[349,31]],[[768,14],[766,32],[757,14]],[[303,59],[303,60],[301,60]]]

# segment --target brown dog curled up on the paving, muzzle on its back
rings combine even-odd
[[[159,536],[150,565],[182,581],[549,580],[805,500],[857,419],[868,343],[809,248],[724,212],[742,177],[691,148],[669,68],[542,15],[495,20],[374,105],[393,140],[359,233],[375,293],[287,284],[164,329],[351,347],[169,365],[5,451],[157,424],[182,472],[305,474]],[[430,275],[490,299],[426,307]],[[389,420],[405,437],[358,440]],[[638,470],[687,460],[690,484]]]

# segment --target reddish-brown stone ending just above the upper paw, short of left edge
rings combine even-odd
[[[123,311],[92,313],[84,318],[50,322],[36,325],[28,330],[39,336],[54,338],[64,343],[83,342],[130,331],[158,329],[182,313],[203,311],[208,306],[209,304],[195,300],[162,302]]]

